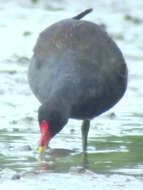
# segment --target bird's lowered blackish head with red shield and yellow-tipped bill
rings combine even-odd
[[[58,109],[41,105],[38,110],[38,120],[41,132],[39,153],[42,155],[50,140],[64,127],[68,119]]]

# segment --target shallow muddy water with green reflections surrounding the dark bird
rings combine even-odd
[[[85,8],[106,27],[129,68],[124,98],[92,121],[88,155],[81,153],[80,121],[70,120],[50,143],[46,163],[37,160],[39,102],[27,83],[38,34]],[[0,189],[129,189],[143,185],[143,2],[0,1]]]

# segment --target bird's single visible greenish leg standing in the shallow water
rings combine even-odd
[[[88,119],[83,120],[83,123],[81,126],[83,153],[86,153],[86,151],[87,151],[87,140],[88,140],[87,138],[88,138],[89,128],[90,128],[90,120],[88,120]]]

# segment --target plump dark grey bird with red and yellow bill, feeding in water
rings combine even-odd
[[[70,118],[82,120],[82,150],[87,151],[90,121],[125,94],[124,56],[98,24],[82,20],[93,9],[60,20],[43,30],[28,68],[32,92],[41,103],[39,154]]]

